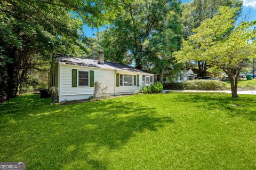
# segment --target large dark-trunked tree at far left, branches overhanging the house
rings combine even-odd
[[[3,0],[0,2],[0,93],[17,95],[38,60],[51,54],[77,54],[83,23],[98,27],[115,17],[118,1]]]

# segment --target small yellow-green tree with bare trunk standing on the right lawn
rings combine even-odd
[[[181,51],[175,52],[179,61],[206,61],[213,67],[220,68],[230,78],[233,98],[238,98],[237,83],[240,71],[250,57],[255,57],[255,32],[250,27],[256,24],[243,22],[235,28],[235,14],[238,9],[220,7],[212,19],[206,19],[194,29]]]

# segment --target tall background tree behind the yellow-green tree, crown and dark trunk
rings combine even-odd
[[[220,6],[229,6],[231,8],[242,7],[242,0],[194,0],[193,2],[182,5],[182,21],[183,21],[183,36],[187,39],[193,35],[193,29],[198,28],[201,23],[208,18],[212,18],[218,12]],[[237,19],[241,14],[239,9],[234,19]],[[206,76],[206,70],[211,67],[205,61],[197,61],[198,77]]]

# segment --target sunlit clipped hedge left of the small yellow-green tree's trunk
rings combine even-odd
[[[226,83],[219,80],[189,80],[184,82],[185,90],[225,90]]]

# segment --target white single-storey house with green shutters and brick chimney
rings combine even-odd
[[[99,52],[99,61],[55,54],[49,86],[58,87],[58,102],[62,102],[90,98],[96,81],[108,86],[108,95],[132,94],[153,84],[153,76],[125,64],[104,62],[103,51]]]

